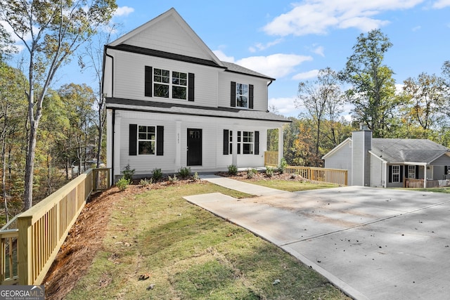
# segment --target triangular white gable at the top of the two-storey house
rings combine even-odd
[[[155,29],[150,29],[152,27],[155,27]],[[148,35],[146,35],[148,34],[148,32],[158,32],[158,30],[167,31],[165,37],[163,37],[165,41],[160,40],[162,39],[161,36],[158,36],[160,39],[152,39],[151,36],[149,37]],[[185,42],[190,41],[191,43],[195,44],[196,47],[200,48],[200,52],[203,53],[204,57],[202,58],[212,60],[217,65],[223,67],[223,64],[219,60],[219,58],[217,58],[217,56],[215,56],[211,49],[206,46],[202,39],[198,37],[198,35],[192,30],[188,23],[183,18],[181,18],[181,15],[179,15],[175,8],[170,8],[169,11],[158,15],[158,17],[137,27],[135,30],[131,30],[131,32],[128,32],[115,41],[112,41],[110,44],[108,44],[108,46],[120,46],[122,44],[125,44],[141,48],[154,48],[145,46],[144,44],[151,43],[153,44],[153,46],[155,46],[158,43],[162,43],[163,45],[167,41],[174,41],[174,36],[177,36],[180,39],[184,39]],[[178,43],[180,41],[176,42]],[[155,50],[161,49],[155,48]],[[184,54],[184,50],[186,50],[186,48],[181,47],[179,49],[180,53],[178,54]]]

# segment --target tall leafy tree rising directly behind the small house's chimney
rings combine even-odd
[[[380,30],[361,34],[353,46],[340,79],[351,84],[347,90],[349,103],[354,105],[354,118],[368,126],[375,138],[383,138],[390,131],[390,122],[397,109],[393,71],[383,65],[390,40]]]

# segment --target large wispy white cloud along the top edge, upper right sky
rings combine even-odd
[[[423,0],[303,0],[293,4],[293,9],[274,18],[263,30],[266,34],[286,36],[293,34],[326,34],[330,28],[355,27],[368,31],[386,25],[388,20],[378,20],[384,11],[409,9]],[[439,0],[435,6],[449,5],[450,0]]]

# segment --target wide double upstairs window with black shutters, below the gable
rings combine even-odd
[[[194,74],[146,66],[145,96],[194,100]]]

